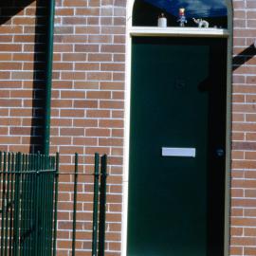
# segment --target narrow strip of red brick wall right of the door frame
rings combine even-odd
[[[230,255],[256,255],[256,1],[233,1]]]

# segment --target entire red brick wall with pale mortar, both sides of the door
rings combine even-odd
[[[51,152],[60,151],[69,172],[82,154],[91,172],[93,154],[111,155],[107,255],[120,255],[124,131],[125,0],[57,0],[52,91]],[[0,4],[0,149],[38,149],[44,81],[45,1]],[[234,0],[230,255],[256,255],[256,1]],[[37,16],[37,19],[35,18]],[[34,44],[34,42],[37,44]],[[34,63],[34,61],[36,61]],[[71,237],[69,176],[61,185],[59,255]],[[80,180],[83,181],[82,179]],[[79,197],[79,252],[90,255],[90,181]],[[87,251],[87,252],[86,252]]]

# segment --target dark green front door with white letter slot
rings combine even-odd
[[[226,60],[225,39],[133,38],[128,256],[223,255]]]

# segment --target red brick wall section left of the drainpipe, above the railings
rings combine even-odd
[[[35,38],[40,37],[38,27],[44,27],[40,18],[44,7],[40,5],[38,3],[40,11],[37,13],[36,28],[35,2],[4,1],[0,4],[1,150],[28,152],[30,142],[37,144],[43,84],[40,79],[41,44],[34,42]],[[34,52],[34,49],[38,52]]]

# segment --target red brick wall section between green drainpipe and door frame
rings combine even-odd
[[[74,152],[80,172],[92,171],[93,154],[110,155],[106,255],[119,255],[124,115],[124,1],[64,0],[56,3],[52,98],[52,150],[60,151],[63,171]],[[82,181],[82,180],[81,180]],[[90,255],[92,185],[80,193],[78,247]],[[70,196],[69,196],[70,197]],[[64,200],[68,197],[64,197]],[[61,206],[65,211],[65,203]],[[70,214],[69,214],[70,219]],[[86,220],[84,222],[84,219]],[[60,222],[67,239],[65,221]],[[66,232],[66,234],[64,234]],[[68,235],[70,237],[70,232]],[[58,244],[64,252],[67,245]],[[63,254],[67,255],[67,254]],[[87,255],[84,252],[77,255]]]

